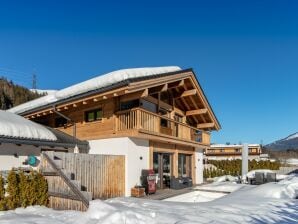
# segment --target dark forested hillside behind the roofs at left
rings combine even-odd
[[[29,100],[43,96],[29,89],[14,84],[4,77],[0,77],[0,109],[6,110]]]

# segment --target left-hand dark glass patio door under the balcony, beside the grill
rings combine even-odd
[[[153,152],[153,169],[159,189],[169,188],[172,176],[172,154]]]

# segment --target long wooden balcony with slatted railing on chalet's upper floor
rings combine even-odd
[[[174,121],[142,108],[116,113],[115,132],[146,134],[149,139],[163,139],[173,143],[190,143],[192,146],[210,145],[209,132],[201,131],[187,124]],[[172,141],[170,140],[172,139]]]

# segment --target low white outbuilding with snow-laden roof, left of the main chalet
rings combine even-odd
[[[74,148],[87,152],[88,142],[0,110],[0,171],[34,169],[42,152],[73,152]]]

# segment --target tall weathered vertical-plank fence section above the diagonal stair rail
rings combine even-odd
[[[125,157],[55,153],[62,160],[66,172],[74,174],[81,182],[82,190],[92,192],[93,199],[124,196]]]

